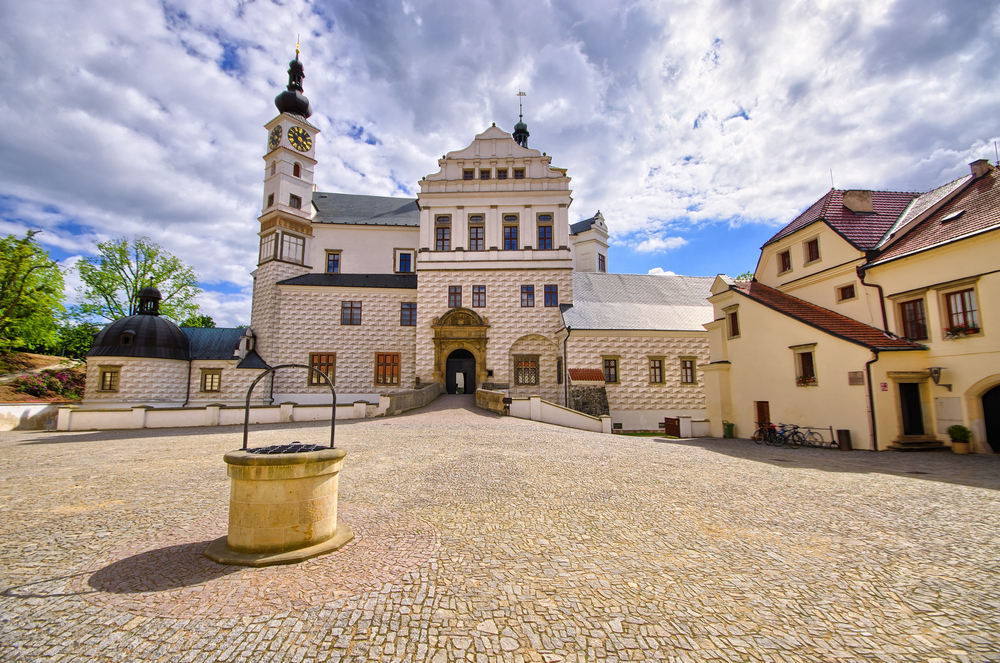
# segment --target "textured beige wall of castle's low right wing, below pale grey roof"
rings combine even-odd
[[[570,368],[603,370],[618,359],[618,383],[608,383],[612,423],[624,430],[656,430],[664,417],[705,416],[702,366],[709,360],[708,332],[573,330],[567,346]],[[651,384],[649,360],[663,361],[662,384]],[[695,360],[695,383],[681,383],[681,359]]]

